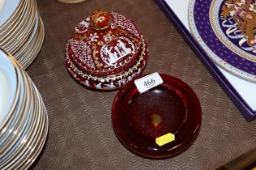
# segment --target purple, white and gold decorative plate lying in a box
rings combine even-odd
[[[256,82],[256,2],[191,0],[189,25],[199,45],[219,66]]]

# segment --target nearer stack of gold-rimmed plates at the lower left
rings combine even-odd
[[[46,106],[14,57],[0,49],[0,169],[26,169],[48,132]]]

